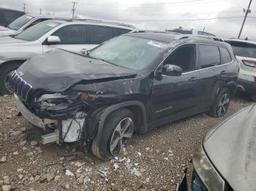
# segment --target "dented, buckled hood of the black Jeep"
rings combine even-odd
[[[34,90],[51,92],[63,92],[81,80],[102,82],[135,76],[132,70],[64,50],[34,56],[20,66],[18,74]]]

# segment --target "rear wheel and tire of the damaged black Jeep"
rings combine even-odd
[[[217,95],[214,104],[211,106],[208,115],[211,117],[223,117],[227,113],[228,106],[230,104],[230,90],[224,88]]]

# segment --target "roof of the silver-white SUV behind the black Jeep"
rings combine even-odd
[[[115,23],[115,22],[108,22],[108,21],[102,21],[102,20],[71,20],[71,19],[65,19],[65,18],[54,18],[51,21],[65,24],[65,23],[72,23],[72,24],[92,24],[92,25],[99,25],[99,26],[111,26],[116,28],[125,28],[129,30],[135,30],[135,26],[129,26],[124,23]]]

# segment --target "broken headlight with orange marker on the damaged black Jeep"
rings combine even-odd
[[[61,93],[44,94],[37,99],[37,103],[41,106],[41,109],[61,110],[80,103],[87,96],[87,93],[78,93],[77,95],[64,95]]]

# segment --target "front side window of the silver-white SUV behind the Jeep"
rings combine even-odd
[[[56,31],[53,36],[59,36],[60,44],[86,44],[86,26],[64,26]]]

